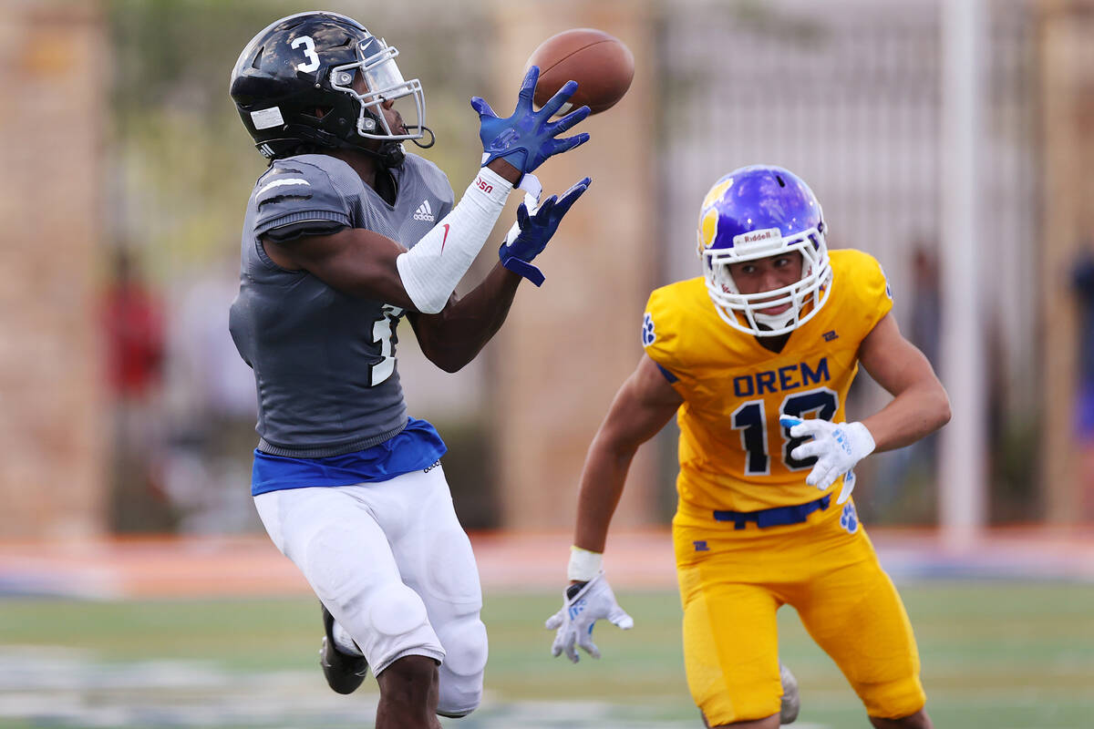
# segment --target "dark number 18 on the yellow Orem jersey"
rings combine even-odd
[[[839,397],[827,387],[792,395],[782,401],[780,412],[792,418],[816,414],[822,420],[831,420],[839,410]],[[745,475],[768,475],[771,473],[767,447],[767,415],[763,400],[749,400],[733,411],[730,416],[733,430],[741,431],[741,446],[745,449]],[[791,471],[812,468],[816,457],[794,458],[791,451],[805,443],[806,438],[790,437],[790,428],[781,427],[782,462]]]

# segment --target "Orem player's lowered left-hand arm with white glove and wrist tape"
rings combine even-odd
[[[582,648],[593,658],[600,658],[601,651],[593,643],[597,620],[607,620],[624,630],[635,624],[616,602],[601,557],[635,452],[668,422],[683,402],[647,356],[616,393],[581,473],[577,537],[567,567],[570,586],[562,595],[562,608],[546,622],[547,628],[555,631],[551,655],[566,654],[577,663],[578,648]]]

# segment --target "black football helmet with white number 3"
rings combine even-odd
[[[352,148],[396,167],[404,140],[419,146],[429,131],[418,79],[404,81],[399,51],[357,21],[331,12],[282,17],[251,39],[232,69],[230,93],[255,146],[267,158],[303,144]],[[360,74],[365,89],[354,81]],[[414,125],[391,129],[382,104],[412,96]],[[405,133],[397,133],[403,131]],[[380,143],[376,143],[376,140]]]

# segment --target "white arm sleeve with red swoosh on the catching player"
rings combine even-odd
[[[403,287],[419,311],[437,314],[449,303],[512,189],[512,183],[482,167],[452,212],[395,259]]]

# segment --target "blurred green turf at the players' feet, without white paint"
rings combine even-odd
[[[916,628],[928,706],[938,727],[1094,726],[1094,586],[945,581],[904,585],[900,591]],[[488,701],[481,713],[446,726],[503,726],[490,724],[490,717],[497,718],[505,707],[545,701],[605,702],[609,715],[641,717],[642,726],[660,721],[673,727],[701,726],[683,675],[676,595],[624,590],[619,597],[635,616],[636,627],[622,633],[610,625],[598,626],[596,642],[604,658],[585,658],[572,666],[549,656],[551,634],[542,627],[557,608],[557,596],[488,592],[484,610],[490,630]],[[0,655],[20,646],[66,647],[81,649],[89,659],[118,670],[137,661],[200,661],[195,663],[199,670],[205,667],[258,683],[264,675],[275,674],[300,675],[304,678],[299,681],[311,682],[317,681],[318,673],[318,625],[316,603],[304,599],[8,599],[0,600]],[[834,728],[866,726],[839,671],[789,609],[780,613],[780,638],[782,658],[802,686],[800,720]],[[0,706],[18,693],[4,685],[5,675],[0,671]],[[365,686],[368,698],[374,682]],[[149,693],[141,695],[147,701]],[[172,694],[171,701],[177,702],[178,696]],[[319,695],[318,701],[325,705],[327,699]],[[342,706],[336,702],[344,701],[333,694],[329,698],[336,707]],[[33,713],[20,716],[18,710],[4,710],[0,715],[2,729],[46,726],[35,721]],[[173,726],[156,725],[154,718],[144,721]],[[289,726],[218,721],[198,726]],[[602,724],[591,719],[587,726]],[[53,720],[48,726],[81,725]],[[140,725],[130,720],[116,726]],[[334,720],[324,726],[342,725]],[[577,729],[581,725],[558,726]]]

